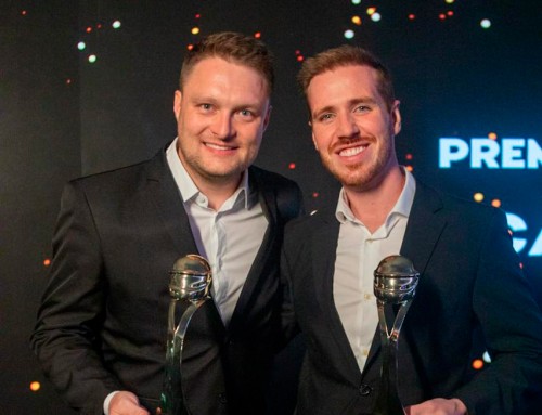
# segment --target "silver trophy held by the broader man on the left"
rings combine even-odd
[[[166,350],[166,377],[160,406],[156,411],[163,415],[188,415],[181,385],[181,364],[184,336],[190,320],[207,301],[211,284],[211,271],[207,260],[198,255],[188,255],[179,258],[169,272],[168,339]],[[176,309],[179,301],[188,301],[189,307],[182,313],[176,326]]]

